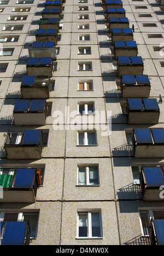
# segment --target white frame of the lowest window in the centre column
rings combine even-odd
[[[92,236],[92,223],[91,223],[91,214],[92,213],[99,213],[99,223],[100,223],[100,231],[101,236]],[[79,215],[80,214],[87,214],[87,236],[86,237],[79,237]],[[101,210],[93,209],[91,211],[82,211],[78,210],[77,212],[77,239],[102,239],[103,238],[103,232],[102,232],[102,214]]]

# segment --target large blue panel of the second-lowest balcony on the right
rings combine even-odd
[[[160,167],[144,167],[143,170],[148,186],[164,185],[164,179]]]

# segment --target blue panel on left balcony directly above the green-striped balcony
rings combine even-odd
[[[38,145],[41,130],[25,130],[23,145]]]

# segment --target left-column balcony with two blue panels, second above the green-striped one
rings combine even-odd
[[[48,106],[46,100],[17,100],[13,117],[16,126],[44,126]]]

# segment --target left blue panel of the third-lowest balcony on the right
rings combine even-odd
[[[137,143],[153,143],[153,140],[151,138],[150,129],[147,128],[135,128],[134,132],[136,134],[136,141]]]

